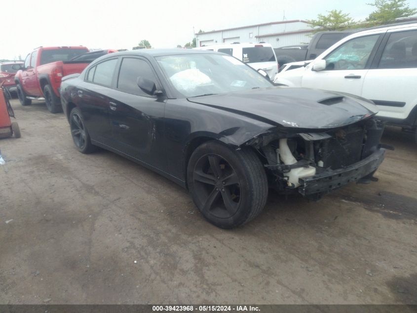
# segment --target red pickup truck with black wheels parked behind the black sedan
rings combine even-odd
[[[62,111],[59,87],[62,77],[81,73],[89,62],[71,61],[88,52],[84,46],[38,47],[28,54],[14,77],[17,95],[22,105],[32,100],[44,100],[51,113]]]

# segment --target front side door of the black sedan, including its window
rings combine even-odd
[[[141,76],[160,83],[148,60],[125,56],[121,59],[113,100],[109,103],[110,124],[113,129],[113,144],[117,150],[165,170],[163,151],[163,114],[165,97],[145,93],[137,85]]]

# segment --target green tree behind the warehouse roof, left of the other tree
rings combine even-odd
[[[319,14],[317,15],[317,19],[307,21],[311,28],[319,27],[314,30],[314,33],[321,31],[340,31],[354,25],[353,18],[349,16],[349,13],[342,13],[341,10],[327,12],[329,14]]]

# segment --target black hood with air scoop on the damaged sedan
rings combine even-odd
[[[274,126],[330,129],[378,113],[370,100],[319,89],[271,87],[188,98]]]

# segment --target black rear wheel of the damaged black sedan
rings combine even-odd
[[[73,141],[79,152],[91,153],[96,150],[96,146],[91,143],[90,135],[85,128],[84,119],[78,108],[71,110],[70,128]]]

